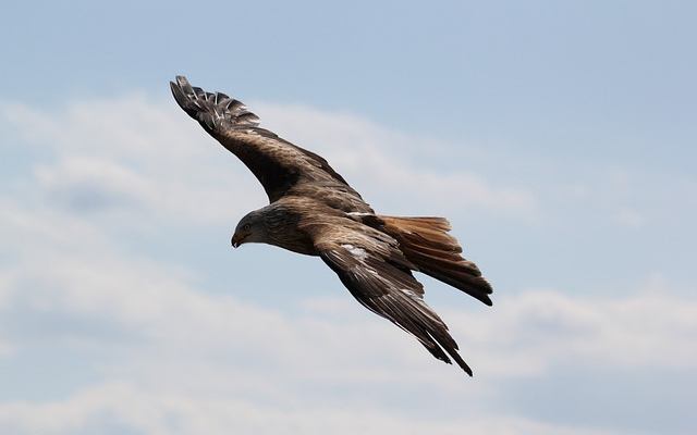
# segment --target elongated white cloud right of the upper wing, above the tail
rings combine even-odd
[[[536,211],[534,192],[523,187],[498,185],[474,171],[425,165],[423,161],[435,152],[442,159],[453,158],[431,139],[408,137],[365,119],[327,114],[303,105],[254,104],[254,111],[261,116],[262,126],[272,125],[284,138],[319,152],[348,183],[363,191],[369,189],[371,196],[394,198],[395,204],[418,203],[426,210],[448,211],[474,206],[526,217]],[[414,206],[411,209],[418,212]]]

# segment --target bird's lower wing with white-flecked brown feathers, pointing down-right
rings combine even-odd
[[[452,357],[472,376],[448,326],[424,302],[424,287],[411,273],[417,268],[396,240],[366,226],[333,223],[313,233],[319,256],[358,302],[412,334],[439,360],[451,363]]]

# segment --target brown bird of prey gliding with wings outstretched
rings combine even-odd
[[[260,128],[242,102],[193,87],[181,76],[170,86],[184,112],[242,160],[269,197],[268,206],[235,227],[235,248],[262,243],[318,256],[358,302],[472,376],[412,274],[423,272],[491,306],[491,286],[475,263],[460,256],[448,220],[376,214],[327,160]]]

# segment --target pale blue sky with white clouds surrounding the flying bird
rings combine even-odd
[[[689,1],[12,2],[0,16],[2,433],[693,434]],[[233,249],[260,185],[172,99],[244,101],[381,214],[469,378],[317,258]]]

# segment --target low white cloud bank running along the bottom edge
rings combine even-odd
[[[299,403],[298,403],[299,405]],[[571,428],[524,418],[462,415],[454,420],[414,419],[369,407],[296,410],[261,407],[235,398],[163,395],[127,382],[82,390],[64,401],[14,402],[0,407],[5,430],[22,435],[111,433],[114,428],[149,435],[273,434],[530,434],[620,435],[620,432]]]

